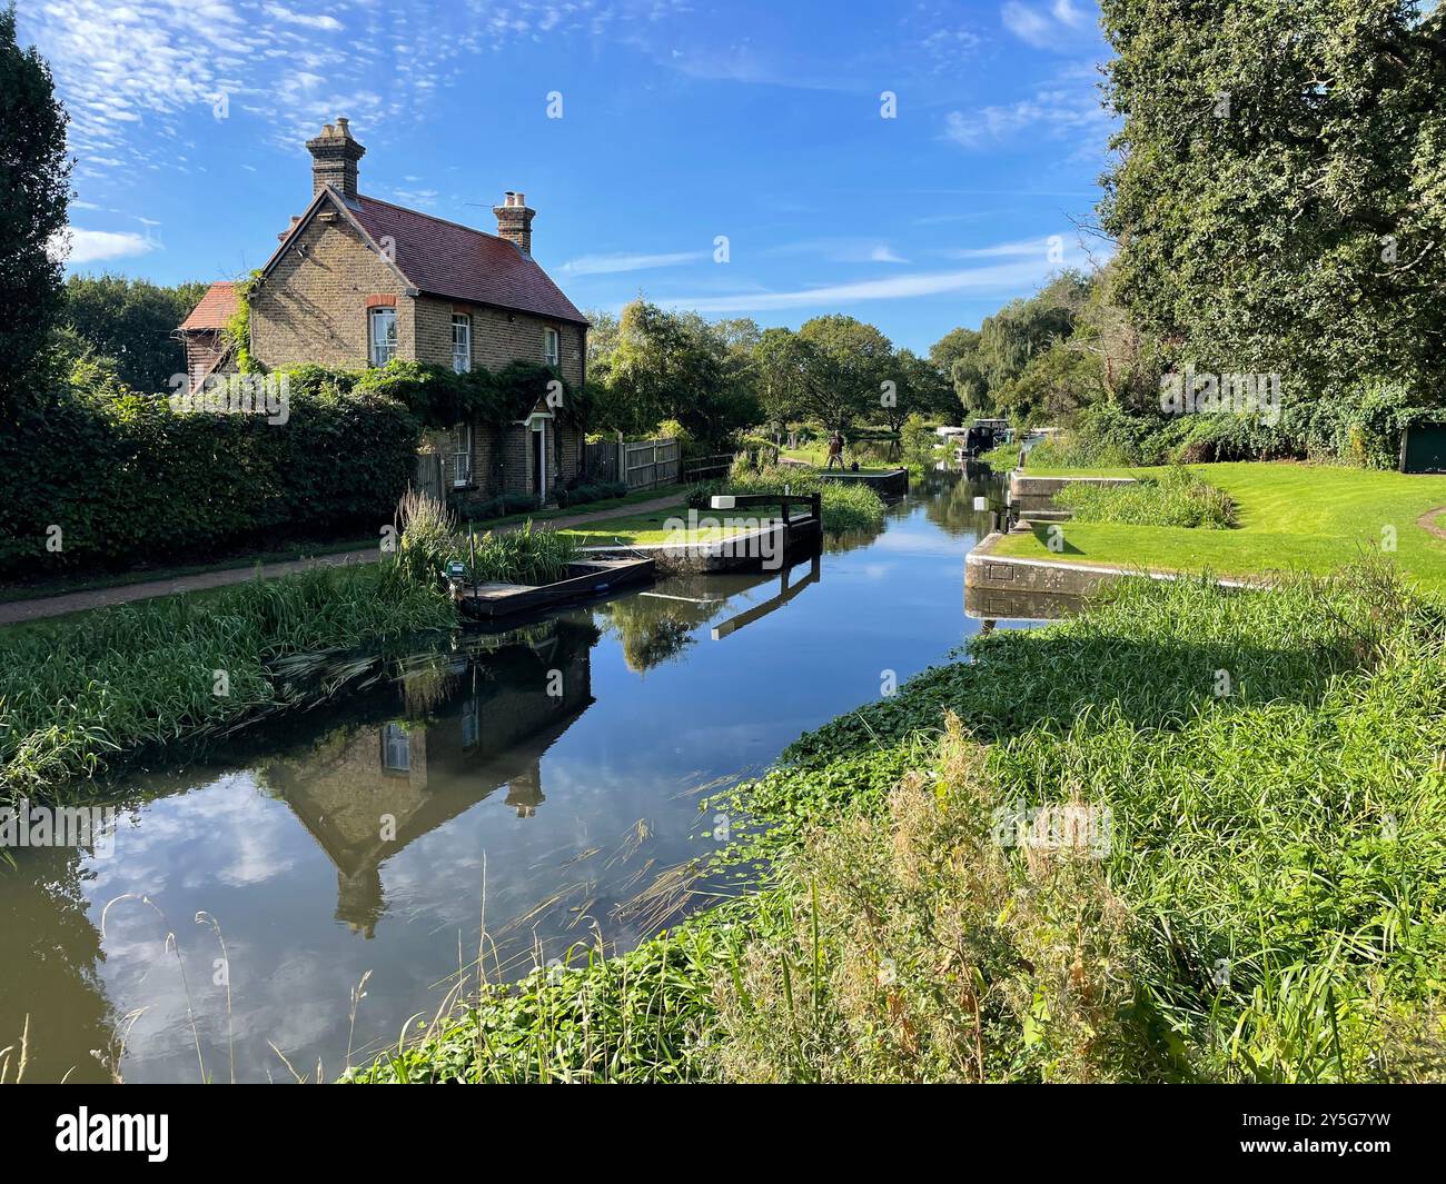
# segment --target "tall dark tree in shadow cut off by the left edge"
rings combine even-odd
[[[20,49],[14,7],[0,12],[0,419],[38,402],[42,357],[61,317],[61,265],[71,162],[65,110],[49,67]]]

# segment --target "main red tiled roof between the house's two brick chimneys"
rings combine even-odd
[[[350,210],[372,239],[396,244],[398,270],[422,292],[587,324],[536,260],[506,239],[366,195]]]

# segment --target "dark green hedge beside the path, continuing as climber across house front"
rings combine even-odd
[[[561,392],[555,372],[513,363],[453,374],[393,361],[377,370],[299,366],[288,416],[176,411],[101,366],[0,428],[0,575],[214,557],[288,538],[379,535],[392,522],[425,426],[506,421]],[[552,387],[551,383],[560,383]],[[51,549],[59,528],[59,549]]]

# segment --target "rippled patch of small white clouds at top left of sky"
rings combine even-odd
[[[429,100],[476,69],[479,55],[542,30],[622,39],[641,6],[675,3],[448,4],[442,32],[435,0],[334,3],[331,13],[298,0],[45,0],[23,6],[20,40],[51,64],[81,176],[188,172],[175,146],[197,126],[227,139],[233,159],[254,145],[254,130],[239,126],[247,119],[288,149],[337,114],[373,145],[401,140],[432,119]]]

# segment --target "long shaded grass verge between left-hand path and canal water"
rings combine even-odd
[[[136,749],[286,701],[276,664],[455,623],[377,565],[315,568],[0,632],[0,802],[62,801]]]

